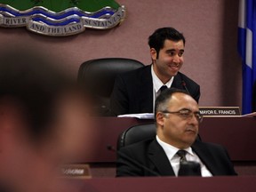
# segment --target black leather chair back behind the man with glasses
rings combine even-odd
[[[122,132],[117,140],[116,149],[131,145],[142,140],[154,139],[156,137],[156,124],[138,124]]]

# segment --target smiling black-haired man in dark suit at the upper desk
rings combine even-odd
[[[161,87],[186,90],[198,102],[200,86],[180,73],[185,37],[175,28],[158,28],[148,38],[152,65],[116,77],[110,98],[113,115],[152,113]]]

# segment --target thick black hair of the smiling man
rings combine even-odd
[[[148,37],[148,45],[150,48],[154,48],[156,50],[157,58],[158,53],[161,49],[164,47],[164,41],[166,39],[172,40],[172,41],[180,41],[182,40],[185,45],[185,37],[182,33],[180,33],[175,28],[158,28],[156,31]]]

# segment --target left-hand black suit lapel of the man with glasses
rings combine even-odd
[[[152,168],[156,167],[160,175],[174,176],[172,165],[156,140],[153,140],[148,148],[148,158],[153,164]]]

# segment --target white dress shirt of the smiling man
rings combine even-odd
[[[154,111],[156,97],[161,93],[160,88],[163,85],[166,85],[167,88],[170,88],[172,86],[174,76],[172,76],[172,78],[166,84],[163,84],[163,82],[158,78],[158,76],[156,76],[156,73],[153,69],[153,65],[151,66],[151,76],[153,80],[153,111]]]

